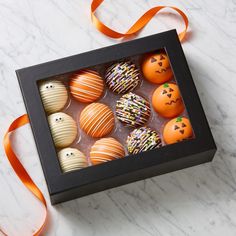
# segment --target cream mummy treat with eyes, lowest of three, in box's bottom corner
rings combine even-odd
[[[85,155],[76,148],[64,148],[58,152],[62,172],[80,170],[88,166]]]

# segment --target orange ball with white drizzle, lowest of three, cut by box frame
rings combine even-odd
[[[121,143],[114,138],[102,138],[94,143],[90,152],[90,160],[93,165],[112,161],[125,156],[125,150]]]

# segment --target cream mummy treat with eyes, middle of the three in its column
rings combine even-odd
[[[75,141],[78,129],[72,117],[57,112],[48,116],[48,123],[57,148],[68,147]]]

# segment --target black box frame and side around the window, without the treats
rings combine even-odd
[[[165,49],[194,130],[194,138],[63,174],[38,82],[82,68]],[[175,30],[16,71],[52,204],[211,161],[216,152],[207,119]]]

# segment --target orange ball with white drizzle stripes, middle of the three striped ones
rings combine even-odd
[[[102,103],[92,103],[80,114],[81,129],[94,138],[109,134],[115,125],[114,121],[111,109]]]

